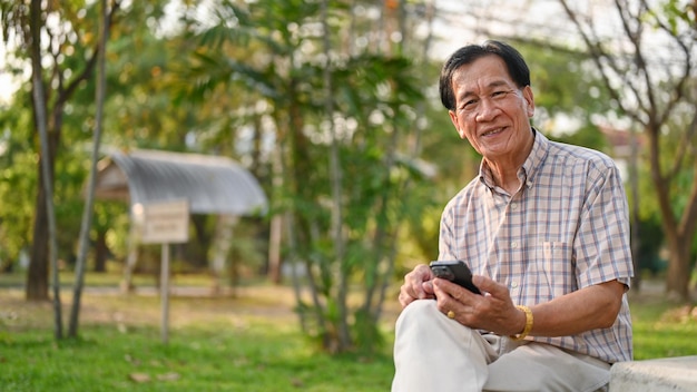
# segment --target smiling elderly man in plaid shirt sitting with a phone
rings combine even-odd
[[[392,391],[602,391],[632,357],[627,198],[606,155],[547,139],[522,56],[500,41],[443,66],[441,100],[482,156],[445,206],[439,259],[473,293],[418,265],[404,277]]]

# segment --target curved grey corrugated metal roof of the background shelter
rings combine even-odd
[[[99,163],[95,195],[130,205],[187,199],[193,214],[252,215],[267,209],[256,178],[225,157],[138,149]]]

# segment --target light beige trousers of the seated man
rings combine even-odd
[[[415,301],[396,322],[392,392],[605,391],[610,364],[549,344],[481,335]]]

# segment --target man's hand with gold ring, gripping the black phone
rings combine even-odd
[[[444,314],[452,312],[453,318],[463,325],[499,335],[512,335],[523,330],[526,315],[516,308],[505,285],[481,275],[473,276],[472,283],[483,295],[445,280],[433,280],[438,308]]]

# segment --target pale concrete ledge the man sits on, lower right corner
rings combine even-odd
[[[610,392],[637,391],[697,391],[697,355],[613,364]]]

